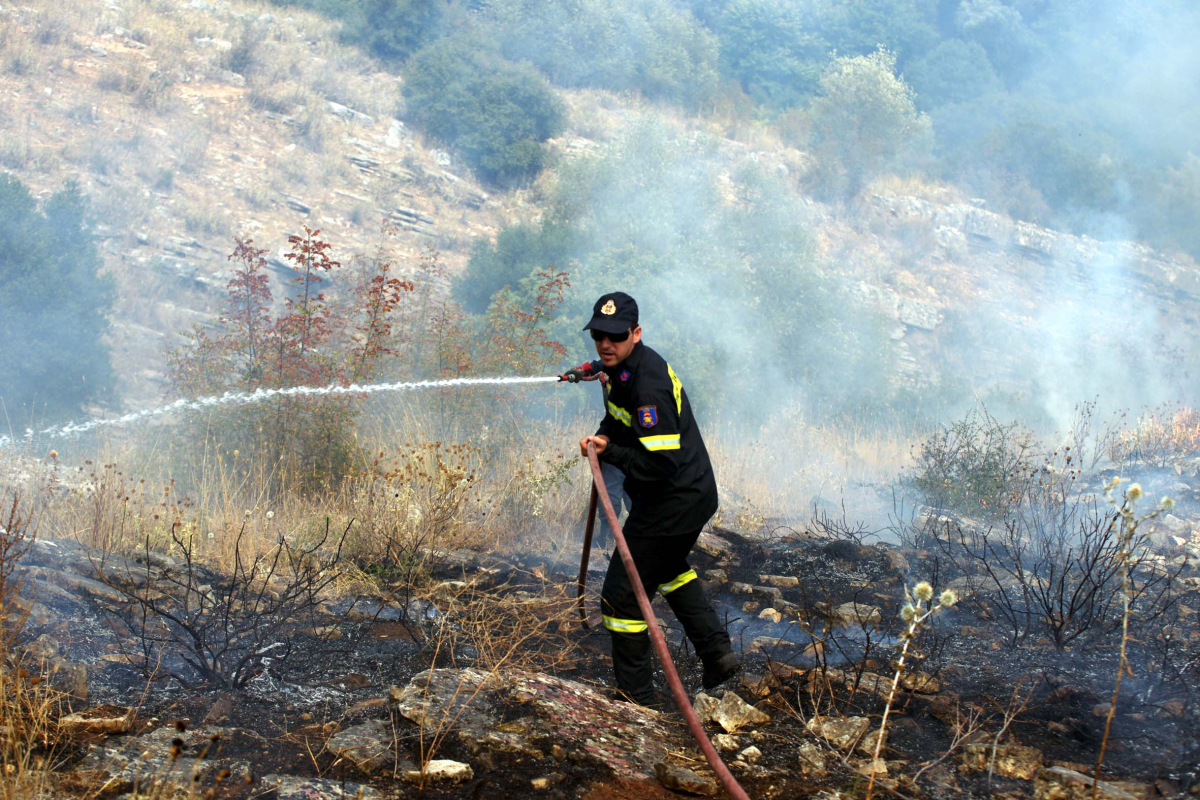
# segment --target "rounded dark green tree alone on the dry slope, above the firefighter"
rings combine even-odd
[[[469,40],[440,40],[422,49],[406,78],[409,115],[493,184],[535,175],[545,158],[542,143],[564,127],[563,106],[541,76]]]

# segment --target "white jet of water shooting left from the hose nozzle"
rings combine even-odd
[[[176,411],[197,411],[216,405],[248,405],[260,403],[272,397],[323,397],[331,395],[377,395],[379,392],[403,392],[418,389],[449,389],[464,386],[500,386],[511,384],[547,384],[566,380],[563,375],[536,375],[528,378],[446,378],[443,380],[414,380],[394,384],[330,384],[328,386],[288,386],[287,389],[256,389],[252,392],[226,392],[194,399],[180,398],[174,403],[158,408],[133,411],[110,420],[89,420],[86,422],[68,422],[64,426],[50,426],[41,431],[28,428],[22,438],[26,444],[35,438],[62,439],[88,433],[96,428],[121,427],[143,420],[167,416]],[[13,445],[12,437],[0,435],[0,450]]]

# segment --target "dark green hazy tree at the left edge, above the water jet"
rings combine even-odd
[[[104,335],[113,281],[72,182],[37,207],[0,175],[0,401],[13,425],[61,420],[114,401]]]

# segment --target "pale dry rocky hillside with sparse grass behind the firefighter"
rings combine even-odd
[[[313,14],[203,0],[61,0],[0,13],[0,163],[42,196],[76,180],[91,198],[119,287],[112,338],[128,408],[161,396],[161,354],[174,332],[212,318],[233,236],[275,252],[283,276],[278,248],[301,224],[349,260],[377,247],[388,223],[401,261],[432,247],[455,273],[472,242],[536,218],[553,180],[484,188],[397,119],[401,79],[338,44],[334,24]],[[552,162],[599,151],[654,118],[680,138],[716,139],[730,204],[746,164],[792,185],[812,166],[769,126],[595,90],[560,95],[569,120],[550,143]],[[1063,350],[1094,343],[1106,326],[1133,325],[1151,339],[1168,331],[1154,345],[1163,351],[1193,330],[1187,299],[1198,279],[1186,259],[1013,222],[947,187],[884,180],[860,197],[846,206],[806,200],[808,223],[838,279],[882,312],[904,385],[953,378],[947,391],[1018,396],[1074,363],[1078,354]],[[1111,300],[1114,285],[1133,293],[1135,323],[1070,318],[1098,291]],[[1058,299],[1060,323],[1070,318],[1050,325],[1054,353],[1038,307],[1048,296]],[[1008,333],[982,335],[992,324]]]

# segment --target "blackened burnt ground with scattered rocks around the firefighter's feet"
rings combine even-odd
[[[431,666],[469,667],[482,662],[484,654],[470,636],[434,636],[446,626],[455,627],[455,609],[473,596],[560,596],[562,588],[574,588],[575,564],[541,557],[499,560],[460,554],[438,576],[443,590],[431,591],[430,600],[422,603],[391,602],[380,607],[364,602],[347,613],[348,603],[343,601],[325,608],[329,624],[319,638],[290,632],[288,657],[302,660],[301,680],[281,679],[268,663],[244,688],[221,691],[184,690],[169,681],[148,684],[137,667],[125,663],[128,658],[120,655],[112,625],[100,610],[114,599],[106,597],[106,587],[85,577],[86,570],[72,548],[41,542],[29,558],[38,600],[30,632],[47,634],[59,645],[62,658],[86,667],[86,704],[128,705],[139,711],[130,733],[108,739],[80,738],[59,752],[64,774],[77,768],[64,777],[65,793],[82,792],[92,775],[84,770],[106,769],[106,758],[110,769],[112,757],[103,753],[113,748],[140,751],[149,741],[146,736],[155,735],[152,732],[182,721],[188,735],[198,736],[187,752],[208,748],[206,760],[234,766],[229,781],[206,784],[217,796],[275,794],[264,793],[260,781],[234,782],[240,775],[238,766],[257,778],[272,774],[319,777],[347,787],[371,787],[383,796],[396,796],[401,787],[402,796],[421,798],[677,796],[653,778],[614,774],[602,760],[536,748],[536,754],[481,757],[475,742],[457,735],[445,738],[437,757],[472,764],[475,777],[462,784],[424,789],[400,784],[390,774],[365,775],[325,747],[337,730],[390,718],[402,759],[418,758],[420,729],[389,712],[389,687],[406,686]],[[762,798],[808,796],[823,790],[860,793],[865,778],[857,766],[865,760],[839,753],[826,742],[821,744],[828,751],[828,775],[804,775],[797,769],[797,748],[816,740],[804,723],[818,714],[865,716],[877,726],[884,700],[872,690],[876,682],[890,684],[904,587],[922,578],[950,578],[944,565],[925,551],[799,537],[762,541],[734,531],[706,536],[692,560],[714,603],[726,615],[734,646],[744,658],[745,674],[732,688],[772,716],[769,724],[752,734],[739,734],[739,746],[752,744],[762,751],[756,764],[740,765],[743,786],[751,796]],[[593,610],[592,595],[599,590],[606,561],[604,554],[593,555]],[[798,578],[798,585],[786,585],[787,578]],[[770,585],[773,582],[784,585]],[[1044,639],[1013,646],[997,615],[989,612],[988,600],[976,600],[960,602],[932,620],[918,642],[923,656],[918,669],[928,682],[916,687],[919,691],[901,691],[893,706],[884,750],[890,780],[883,786],[901,796],[983,798],[1002,792],[1028,795],[1028,781],[996,776],[989,786],[983,772],[956,770],[953,756],[926,770],[918,783],[905,777],[942,758],[955,721],[972,711],[986,720],[982,738],[976,740],[990,742],[1003,723],[1006,709],[1013,708],[1014,697],[1024,708],[1008,727],[1004,744],[1034,747],[1046,764],[1075,765],[1080,770],[1094,764],[1104,724],[1104,709],[1098,706],[1104,706],[1111,693],[1117,637],[1080,637],[1063,650]],[[857,603],[859,619],[846,618],[846,603]],[[1195,591],[1184,595],[1181,603],[1195,606]],[[562,615],[563,606],[547,603],[542,608],[546,614],[553,610]],[[768,608],[779,610],[779,621],[769,619],[770,612],[768,619],[760,616]],[[877,621],[871,618],[872,608],[878,610]],[[661,609],[668,626],[682,678],[695,696],[700,691],[700,666],[665,603],[658,601],[656,609]],[[1188,618],[1192,636],[1194,619]],[[544,648],[546,657],[535,654],[534,666],[541,658],[542,672],[604,690],[611,674],[606,633],[586,631],[576,622],[560,621],[560,616],[545,633],[552,646]],[[1132,645],[1133,675],[1127,676],[1118,703],[1105,774],[1112,780],[1135,782],[1145,798],[1196,793],[1200,709],[1194,697],[1195,674],[1171,681],[1165,670],[1156,673],[1153,634],[1142,631]],[[530,648],[538,645],[530,642]],[[660,685],[665,686],[661,675]],[[886,691],[882,693],[886,696]],[[502,716],[498,724],[518,718],[515,711],[511,720]],[[664,712],[660,718],[671,732],[668,750],[686,759],[689,744],[682,717]],[[588,724],[602,735],[604,718]],[[211,732],[221,734],[215,744],[206,739]],[[732,757],[726,754],[727,759]],[[530,781],[535,778],[548,778],[548,787],[533,792]],[[350,789],[349,796],[354,792],[358,789]]]

